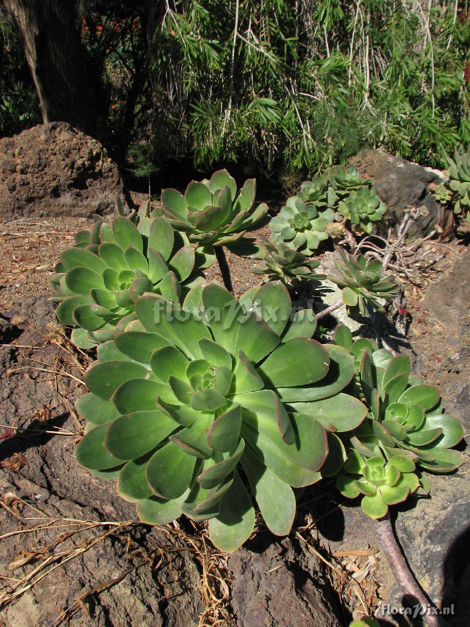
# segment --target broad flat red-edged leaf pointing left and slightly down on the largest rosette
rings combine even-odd
[[[105,446],[120,460],[134,460],[155,448],[178,424],[155,408],[117,418],[108,429]]]

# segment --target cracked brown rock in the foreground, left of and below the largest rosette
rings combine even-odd
[[[169,528],[140,524],[135,505],[118,497],[115,481],[95,477],[75,459],[80,426],[70,408],[85,390],[69,376],[58,376],[55,382],[51,374],[40,370],[51,371],[57,354],[73,364],[68,353],[44,343],[43,335],[34,330],[51,334],[51,324],[56,324],[47,297],[25,298],[21,306],[0,315],[0,424],[28,429],[16,434],[0,428],[0,500],[10,510],[0,508],[0,527],[2,534],[11,534],[2,540],[0,551],[0,625],[52,627],[66,608],[72,608],[67,623],[72,627],[196,627],[204,603],[201,564],[191,545]],[[7,345],[14,340],[20,347]],[[32,352],[22,348],[33,345],[37,348]],[[67,371],[78,379],[83,376],[73,367]],[[63,435],[60,429],[72,435]],[[76,529],[73,524],[67,526],[73,520],[63,519],[133,524],[103,539],[100,535],[110,527],[90,527],[53,544],[61,532]],[[17,533],[48,524],[34,534]],[[81,543],[86,544],[85,552],[69,561],[65,555],[61,565],[31,589],[2,604],[3,594],[14,582],[1,576],[21,579],[49,558],[53,561],[46,566],[52,568],[60,562],[54,556],[84,546]],[[28,561],[38,547],[48,546]],[[161,564],[157,547],[167,551]],[[147,559],[152,552],[153,562]],[[12,562],[16,566],[11,567]],[[227,557],[222,576],[230,582],[232,601],[227,609],[231,619],[219,624],[342,624],[335,618],[340,615],[336,593],[320,560],[296,540],[262,531]],[[90,594],[80,604],[85,593]]]

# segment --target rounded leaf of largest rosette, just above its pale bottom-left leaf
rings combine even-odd
[[[159,448],[147,463],[147,482],[163,498],[178,498],[192,479],[196,457],[187,455],[174,442]]]

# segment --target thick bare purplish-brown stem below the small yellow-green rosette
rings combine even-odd
[[[441,616],[432,613],[433,608],[436,606],[431,603],[426,594],[419,587],[418,582],[414,578],[413,573],[410,571],[408,564],[402,554],[397,540],[395,539],[394,530],[392,528],[392,522],[390,516],[387,514],[380,520],[374,520],[375,531],[377,537],[379,537],[382,549],[384,549],[385,557],[389,562],[390,569],[392,570],[395,580],[401,587],[403,593],[406,596],[412,596],[419,601],[422,607],[422,618],[429,627],[450,627],[449,623],[445,621]],[[431,614],[428,615],[428,608],[431,604]]]

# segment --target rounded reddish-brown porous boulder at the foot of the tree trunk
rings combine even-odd
[[[65,122],[0,139],[0,218],[109,213],[127,195],[103,146]]]

